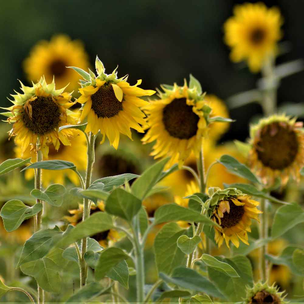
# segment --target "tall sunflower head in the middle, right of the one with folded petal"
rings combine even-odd
[[[154,100],[144,107],[149,130],[143,137],[144,143],[156,140],[153,146],[154,158],[170,156],[166,168],[178,162],[179,168],[194,152],[198,158],[202,147],[202,138],[207,133],[207,116],[212,109],[204,101],[205,94],[199,94],[197,87],[188,88],[174,83],[173,87],[161,86],[161,99]]]

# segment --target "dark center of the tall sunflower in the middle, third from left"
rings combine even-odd
[[[199,116],[187,105],[186,98],[174,99],[163,110],[163,123],[168,133],[175,138],[189,139],[197,132]]]

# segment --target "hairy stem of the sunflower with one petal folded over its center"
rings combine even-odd
[[[87,141],[88,161],[87,161],[87,171],[85,176],[84,189],[87,189],[91,185],[92,169],[95,161],[95,154],[94,154],[95,138],[96,136],[93,135],[92,132],[90,132]],[[86,220],[89,216],[90,216],[90,202],[89,199],[84,199],[82,221]],[[86,285],[86,281],[88,278],[88,264],[85,262],[84,259],[84,255],[86,251],[87,251],[87,237],[84,237],[81,241],[80,288]]]

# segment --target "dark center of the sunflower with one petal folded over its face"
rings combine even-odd
[[[92,109],[99,117],[113,117],[123,109],[123,101],[120,102],[114,93],[113,87],[110,83],[104,84],[99,90],[91,95]]]

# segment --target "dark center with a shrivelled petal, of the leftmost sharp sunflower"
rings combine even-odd
[[[39,96],[24,107],[21,116],[30,131],[44,135],[58,127],[60,109],[51,97]]]

